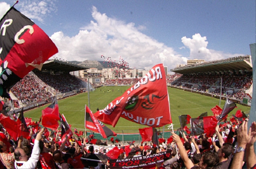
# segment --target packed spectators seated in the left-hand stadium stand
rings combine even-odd
[[[37,78],[36,78],[37,76]],[[40,80],[38,80],[38,78]],[[52,89],[49,91],[48,89]],[[51,75],[42,72],[30,73],[15,84],[10,91],[22,104],[31,105],[42,101],[51,102],[58,93],[85,88],[82,80],[70,74]]]

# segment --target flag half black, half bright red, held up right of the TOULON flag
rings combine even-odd
[[[218,120],[215,116],[207,116],[200,118],[191,118],[191,135],[206,134],[207,137],[211,137],[215,133]]]

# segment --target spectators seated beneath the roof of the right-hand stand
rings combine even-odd
[[[222,77],[222,84],[220,77]],[[202,92],[209,92],[227,97],[242,99],[246,96],[245,91],[252,85],[252,72],[228,72],[224,74],[184,74],[172,85]]]

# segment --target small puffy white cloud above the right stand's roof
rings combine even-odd
[[[208,42],[206,36],[194,34],[191,38],[186,36],[181,38],[182,43],[190,49],[189,59],[203,59],[206,61],[220,60],[240,56],[242,54],[228,54],[221,51],[211,50],[207,48]]]

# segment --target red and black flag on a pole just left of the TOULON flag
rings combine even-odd
[[[85,106],[85,127],[97,133],[100,133],[104,139],[111,135],[116,135],[114,131],[109,129],[101,121],[99,121],[88,106]]]

